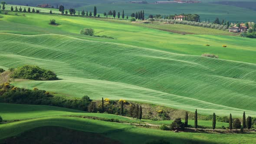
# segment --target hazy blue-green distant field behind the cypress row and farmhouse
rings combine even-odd
[[[95,5],[89,5],[84,7],[78,7],[77,10],[88,10],[93,12]],[[97,4],[98,13],[108,12],[109,10],[115,10],[116,12],[125,11],[125,16],[130,16],[131,13],[136,13],[136,11],[144,10],[145,16],[148,18],[150,14],[156,15],[174,15],[181,13],[194,13],[200,15],[201,21],[205,19],[210,19],[214,21],[216,17],[220,20],[228,20],[230,22],[236,23],[237,21],[255,21],[253,15],[256,11],[226,6],[211,3],[171,3],[171,4],[134,4],[134,3],[104,3]],[[242,13],[241,13],[242,12]]]

